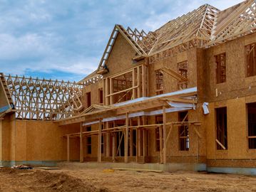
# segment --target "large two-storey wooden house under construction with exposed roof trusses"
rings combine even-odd
[[[80,82],[1,73],[0,164],[256,174],[255,15],[247,0],[205,4],[149,33],[116,25]]]

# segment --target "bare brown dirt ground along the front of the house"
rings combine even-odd
[[[185,171],[0,169],[0,191],[256,191],[256,177]]]

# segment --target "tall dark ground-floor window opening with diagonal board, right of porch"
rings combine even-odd
[[[227,107],[215,109],[217,150],[227,149]]]

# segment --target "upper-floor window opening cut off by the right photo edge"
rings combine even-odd
[[[256,43],[245,46],[247,77],[256,75]]]

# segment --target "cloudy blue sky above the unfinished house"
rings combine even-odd
[[[240,2],[0,0],[0,72],[78,81],[98,67],[116,23],[154,31],[202,4]]]

